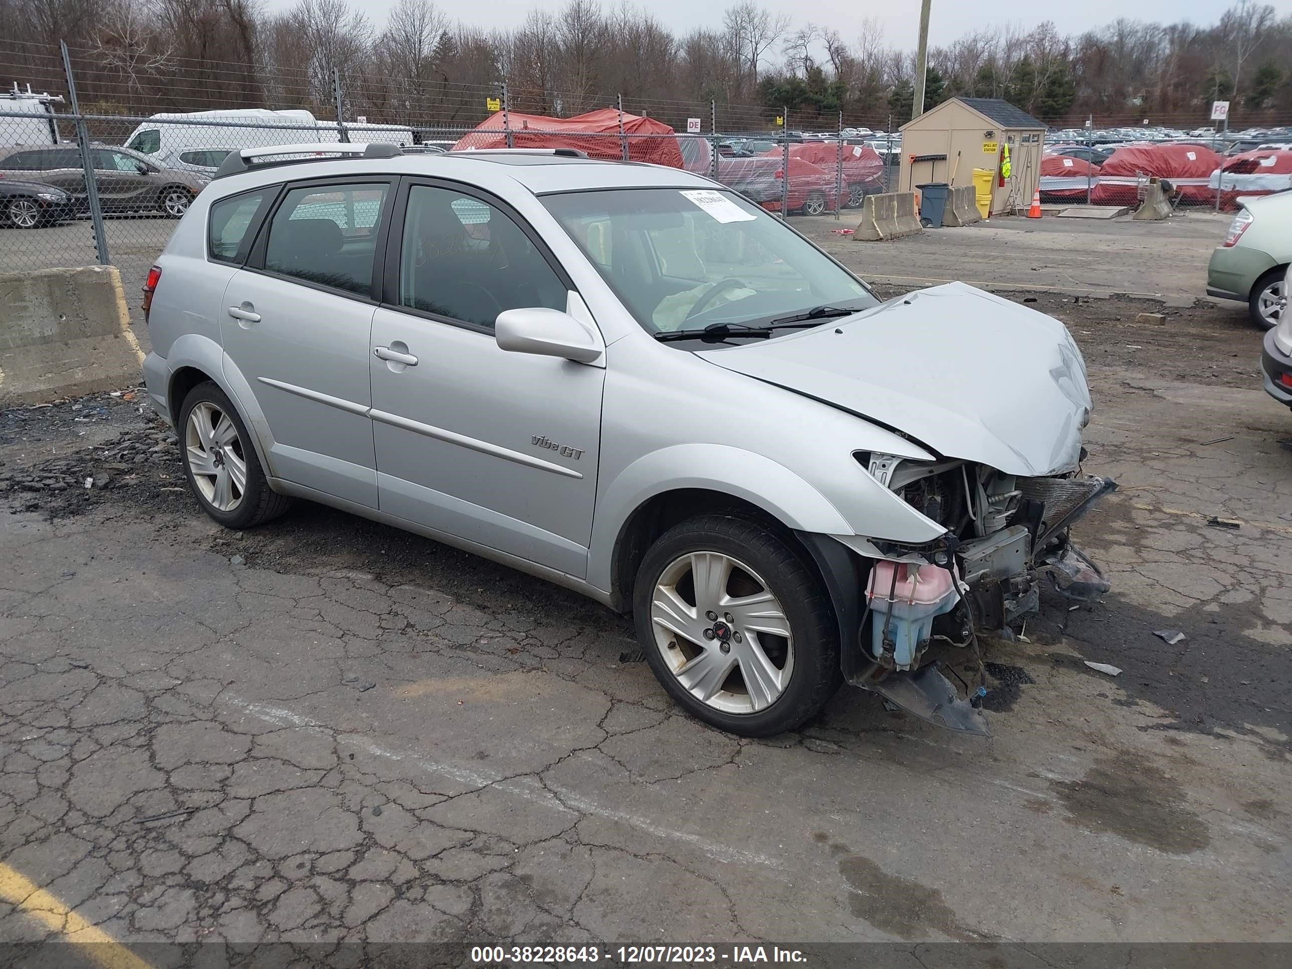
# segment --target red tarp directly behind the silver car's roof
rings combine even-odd
[[[503,112],[495,111],[478,125],[475,130],[464,134],[453,145],[453,151],[468,149],[505,149],[506,133],[503,129]],[[654,118],[625,114],[624,133],[628,138],[628,159],[630,162],[651,162],[656,165],[682,167],[682,152],[677,147],[673,129]],[[574,118],[545,118],[544,115],[522,115],[512,111],[506,116],[512,129],[512,147],[517,149],[578,149],[590,158],[603,158],[619,162],[624,156],[624,143],[619,137],[619,111],[602,107]]]

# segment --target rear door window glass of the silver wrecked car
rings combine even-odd
[[[388,185],[292,189],[274,213],[265,269],[367,296]]]

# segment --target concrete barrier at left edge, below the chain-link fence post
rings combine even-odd
[[[115,266],[0,274],[0,404],[130,386],[142,360]]]

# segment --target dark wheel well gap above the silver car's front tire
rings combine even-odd
[[[611,565],[611,596],[615,609],[628,611],[632,607],[637,570],[655,539],[674,525],[702,514],[730,514],[765,525],[786,539],[791,548],[800,554],[804,563],[820,576],[820,568],[795,531],[775,516],[752,501],[722,491],[678,488],[655,495],[642,503],[619,530]]]

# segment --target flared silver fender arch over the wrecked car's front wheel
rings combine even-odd
[[[797,531],[853,534],[833,503],[770,457],[726,444],[674,444],[638,457],[602,488],[588,549],[588,580],[611,589],[615,540],[624,522],[656,495],[686,488],[743,499]]]

